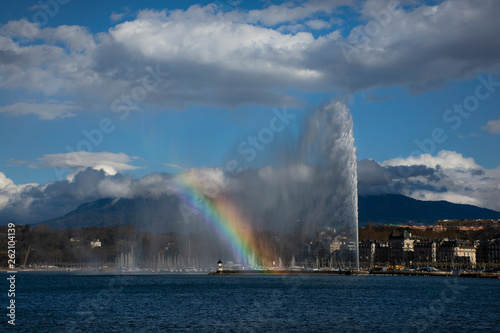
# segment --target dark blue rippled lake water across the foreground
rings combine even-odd
[[[5,282],[1,286],[8,290]],[[8,327],[5,315],[1,327],[18,332],[499,332],[499,296],[499,279],[23,272],[17,274],[16,327]],[[2,302],[8,305],[6,295]]]

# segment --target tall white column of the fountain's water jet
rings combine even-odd
[[[357,157],[350,110],[337,101],[313,112],[300,149],[301,160],[316,173],[313,190],[319,204],[311,207],[316,226],[347,237],[347,244],[341,244],[348,245],[343,259],[353,260],[359,270]]]

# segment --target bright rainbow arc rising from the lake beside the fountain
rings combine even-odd
[[[237,262],[248,263],[248,258],[251,257],[253,264],[267,263],[271,258],[269,251],[256,240],[251,224],[229,200],[220,195],[209,199],[201,188],[194,172],[184,172],[175,178],[174,193],[182,204],[203,216],[205,223],[215,231],[219,239],[230,246]]]

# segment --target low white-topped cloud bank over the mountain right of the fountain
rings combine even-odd
[[[446,200],[500,211],[500,167],[485,169],[454,151],[382,163],[358,162],[360,194],[398,193],[419,200]]]

